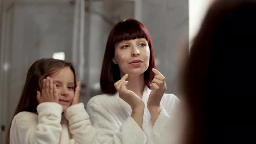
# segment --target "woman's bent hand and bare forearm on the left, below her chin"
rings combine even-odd
[[[143,109],[144,110],[144,102],[142,99],[136,95],[131,90],[126,88],[128,81],[125,81],[128,78],[128,74],[124,75],[119,81],[117,81],[114,86],[115,89],[119,93],[119,97],[127,102],[132,110]]]

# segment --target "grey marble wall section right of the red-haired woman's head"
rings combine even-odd
[[[166,77],[167,93],[173,93],[175,55],[188,36],[188,0],[144,0],[143,6],[142,23],[151,34],[157,69]]]

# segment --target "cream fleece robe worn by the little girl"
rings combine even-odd
[[[95,129],[84,104],[71,105],[62,114],[62,106],[44,102],[38,115],[22,111],[14,116],[10,144],[97,144]]]

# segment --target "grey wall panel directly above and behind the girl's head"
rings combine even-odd
[[[64,51],[66,60],[71,60],[73,25],[73,7],[69,3],[15,3],[13,10],[9,119],[20,98],[26,73],[36,59]]]

